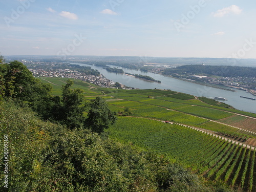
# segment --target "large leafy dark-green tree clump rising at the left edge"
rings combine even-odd
[[[33,77],[19,61],[0,64],[0,95],[26,101],[44,119],[49,113],[52,87]],[[22,103],[22,102],[21,102]]]

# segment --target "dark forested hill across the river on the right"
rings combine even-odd
[[[216,75],[222,77],[256,77],[256,68],[238,67],[238,66],[204,66],[204,65],[187,65],[175,69],[166,69],[163,74],[204,74]]]

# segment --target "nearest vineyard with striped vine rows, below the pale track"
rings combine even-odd
[[[165,154],[207,179],[256,190],[255,151],[250,148],[177,124],[136,117],[118,117],[108,132],[112,139]]]

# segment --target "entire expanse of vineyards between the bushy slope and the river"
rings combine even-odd
[[[42,81],[50,81],[53,94],[60,95],[65,80],[44,78]],[[117,123],[108,130],[112,139],[164,154],[170,161],[178,162],[206,179],[222,180],[244,191],[256,191],[255,150],[211,135],[220,134],[242,143],[246,139],[250,141],[248,143],[256,143],[256,119],[251,118],[256,114],[174,91],[92,87],[93,84],[75,80],[72,88],[82,89],[87,99],[97,96],[108,99],[109,108],[116,114],[125,115],[123,112],[129,110],[129,115],[135,116],[118,116]],[[208,130],[208,134],[188,126]]]

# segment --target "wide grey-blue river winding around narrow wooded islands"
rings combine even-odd
[[[98,70],[102,75],[104,75],[106,78],[114,81],[114,82],[120,82],[121,84],[124,84],[128,87],[133,88],[139,88],[139,89],[170,89],[172,91],[182,92],[190,95],[195,96],[204,96],[207,98],[214,98],[214,97],[224,97],[227,99],[227,101],[221,101],[225,102],[229,105],[232,105],[234,108],[241,110],[241,111],[247,111],[251,113],[256,113],[256,100],[241,98],[240,96],[244,97],[254,97],[256,96],[251,95],[250,93],[246,93],[242,90],[236,90],[236,92],[222,90],[222,89],[216,89],[211,87],[202,86],[201,84],[196,84],[189,81],[183,81],[180,79],[172,78],[169,76],[164,76],[160,74],[155,74],[151,72],[142,72],[140,70],[131,70],[116,66],[110,66],[110,67],[116,67],[118,69],[123,69],[126,73],[131,74],[141,74],[141,75],[147,75],[150,76],[156,80],[160,80],[161,83],[157,82],[151,82],[146,81],[143,79],[135,78],[132,76],[120,74],[120,73],[112,73],[108,72],[102,67],[96,67],[86,64],[80,64],[80,63],[71,63],[76,64],[80,66],[89,66],[92,69]]]

